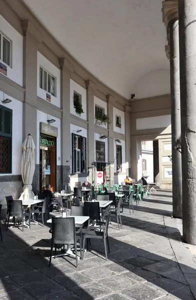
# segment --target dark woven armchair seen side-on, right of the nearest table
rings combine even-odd
[[[110,220],[110,212],[105,214],[104,218],[105,218],[105,222],[101,222],[100,227],[88,226],[86,233],[83,235],[82,258],[84,257],[85,240],[86,239],[88,240],[91,238],[102,238],[103,239],[106,259],[108,258],[107,246],[108,246],[108,252],[110,253],[110,246],[109,246],[109,240],[108,240],[108,226],[109,226],[109,220]],[[88,251],[88,242],[87,242],[87,251]]]

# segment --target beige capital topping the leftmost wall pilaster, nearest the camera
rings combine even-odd
[[[28,36],[35,44],[39,44],[44,39],[44,35],[31,23],[30,20],[21,20],[24,36]]]

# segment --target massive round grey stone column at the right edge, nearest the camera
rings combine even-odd
[[[196,0],[179,0],[183,238],[196,245]]]

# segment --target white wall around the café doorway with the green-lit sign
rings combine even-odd
[[[56,121],[51,125],[58,128],[58,137],[56,138],[56,164],[61,164],[61,143],[60,143],[60,119],[54,117],[53,115],[47,115],[46,113],[37,110],[37,149],[36,149],[36,163],[39,164],[39,132],[40,132],[40,122],[47,124],[47,119],[55,119]],[[60,158],[60,159],[59,159]]]

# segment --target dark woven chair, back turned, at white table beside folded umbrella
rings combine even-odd
[[[23,231],[23,229],[24,229],[24,224],[23,224],[24,215],[25,215],[25,210],[22,207],[22,200],[10,201],[9,202],[9,214],[8,214],[8,219],[7,219],[6,230],[8,229],[9,218],[10,218],[10,216],[12,216],[13,217],[13,226],[15,224],[15,217],[17,217],[18,219],[20,217],[22,219],[22,231]],[[30,222],[29,222],[29,228],[30,228]]]

